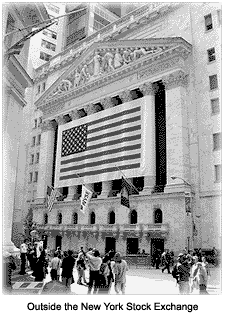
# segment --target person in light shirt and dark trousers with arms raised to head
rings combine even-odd
[[[93,287],[93,294],[97,294],[99,287],[99,269],[102,264],[102,259],[100,258],[100,253],[97,249],[88,251],[85,255],[90,267],[88,294],[91,294]]]

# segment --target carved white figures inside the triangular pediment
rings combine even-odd
[[[86,61],[82,62],[66,79],[61,81],[50,96],[66,93],[148,54],[157,54],[162,51],[163,47],[160,46],[96,49]]]

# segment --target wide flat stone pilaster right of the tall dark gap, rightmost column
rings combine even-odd
[[[167,185],[164,192],[185,191],[180,177],[190,182],[188,76],[181,70],[165,76]]]

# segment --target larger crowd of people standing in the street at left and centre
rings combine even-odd
[[[20,246],[20,274],[26,274],[26,267],[32,270],[31,276],[35,282],[41,282],[50,270],[51,282],[45,284],[43,293],[70,292],[71,284],[75,282],[73,270],[78,273],[77,284],[88,287],[88,294],[109,294],[114,282],[117,294],[125,294],[127,263],[120,253],[109,251],[101,257],[97,249],[87,252],[81,247],[79,253],[72,250],[62,252],[57,247],[53,256],[44,249],[43,242],[31,243],[25,240]],[[89,271],[89,280],[85,271]]]

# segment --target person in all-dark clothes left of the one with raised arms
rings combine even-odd
[[[70,289],[71,284],[74,283],[73,268],[75,265],[75,258],[73,257],[73,251],[68,250],[68,256],[62,260],[62,283]]]

